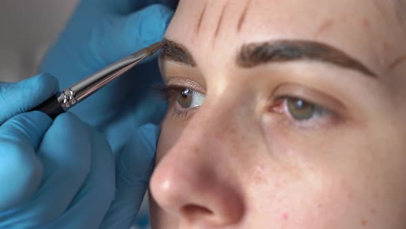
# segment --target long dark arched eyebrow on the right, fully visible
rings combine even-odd
[[[242,68],[253,68],[265,63],[303,59],[332,63],[376,77],[374,72],[345,52],[314,41],[279,40],[246,44],[237,54],[236,62]]]

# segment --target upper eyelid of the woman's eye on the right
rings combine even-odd
[[[284,97],[303,99],[309,103],[314,103],[314,105],[321,106],[333,112],[345,113],[347,111],[347,108],[345,108],[343,103],[340,101],[333,99],[323,92],[319,92],[305,86],[300,86],[299,84],[284,83],[274,90],[273,102]]]

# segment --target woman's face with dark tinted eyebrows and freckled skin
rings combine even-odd
[[[180,1],[153,228],[406,228],[406,8]]]

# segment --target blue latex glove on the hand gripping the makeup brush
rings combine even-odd
[[[25,112],[56,91],[46,74],[0,83],[0,228],[129,228],[153,168],[157,128],[135,132],[115,168],[103,135],[75,115],[52,121]]]

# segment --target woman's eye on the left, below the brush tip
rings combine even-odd
[[[204,94],[190,88],[179,88],[175,91],[175,99],[183,109],[202,106],[204,98]]]

